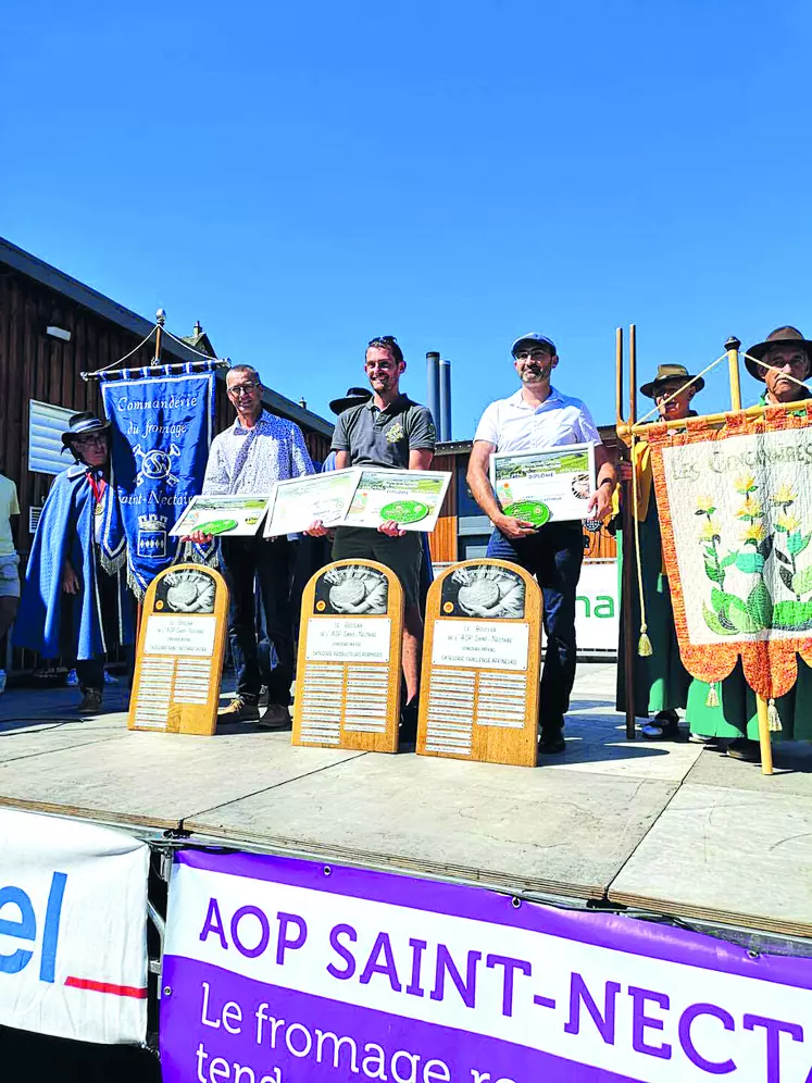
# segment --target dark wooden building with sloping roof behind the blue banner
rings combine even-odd
[[[68,456],[64,462],[54,458],[51,450],[50,461],[43,463],[38,439],[43,432],[49,435],[50,424],[52,449],[53,426],[64,430],[68,412],[95,410],[101,415],[99,384],[83,379],[82,373],[115,365],[152,327],[151,321],[0,238],[0,471],[16,484],[20,496],[15,543],[21,570],[54,472],[71,462]],[[215,356],[200,324],[185,344],[164,336],[161,360],[200,360],[196,350]],[[126,363],[149,364],[153,357],[154,337],[135,349]],[[234,416],[225,371],[217,375],[215,432]],[[264,400],[273,413],[301,426],[311,456],[322,461],[329,450],[333,422],[270,388]],[[49,469],[43,470],[43,464]],[[0,668],[5,658],[1,648],[0,644]]]

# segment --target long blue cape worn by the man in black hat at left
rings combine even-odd
[[[118,514],[114,486],[105,486],[102,505],[104,522],[109,523]],[[117,644],[133,643],[133,606],[120,571],[126,547],[124,543],[115,551],[102,547],[97,556],[93,509],[87,468],[82,464],[57,477],[42,508],[14,622],[14,643],[39,651],[43,658],[83,660],[103,655]],[[65,558],[79,580],[77,595],[62,590]],[[99,575],[104,573],[116,577],[117,644],[107,643],[104,637],[99,592]]]

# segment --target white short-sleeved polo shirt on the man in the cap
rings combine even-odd
[[[486,408],[474,433],[497,451],[540,451],[562,444],[600,444],[592,415],[580,399],[562,395],[554,387],[540,407],[522,398],[522,388]]]

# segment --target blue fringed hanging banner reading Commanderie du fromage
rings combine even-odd
[[[115,550],[123,538],[113,535],[126,537],[128,582],[139,600],[182,556],[170,531],[203,487],[217,368],[203,361],[99,375],[121,507],[121,522],[104,521],[103,544]]]

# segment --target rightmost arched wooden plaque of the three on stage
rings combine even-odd
[[[541,592],[507,560],[464,560],[426,602],[417,752],[535,767]]]

